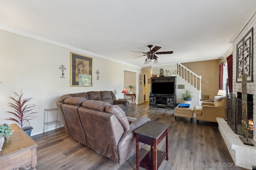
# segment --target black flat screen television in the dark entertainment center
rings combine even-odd
[[[175,96],[175,84],[174,82],[152,82],[151,93],[153,95]]]

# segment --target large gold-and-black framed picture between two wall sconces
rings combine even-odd
[[[92,57],[70,52],[70,86],[92,86]]]

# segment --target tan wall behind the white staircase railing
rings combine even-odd
[[[192,63],[181,63],[192,72],[202,76],[202,94],[208,94],[211,99],[217,95],[219,90],[219,64],[221,60],[198,61]]]

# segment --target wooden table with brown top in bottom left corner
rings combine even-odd
[[[18,170],[19,168],[37,170],[36,142],[18,125],[11,124],[12,137],[6,137],[0,151],[1,170]]]

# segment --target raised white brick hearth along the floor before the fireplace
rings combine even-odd
[[[256,164],[256,142],[249,138],[254,147],[244,145],[239,139],[241,135],[234,133],[223,118],[217,117],[217,122],[222,138],[236,166],[251,170],[252,166],[247,167],[247,165]]]

